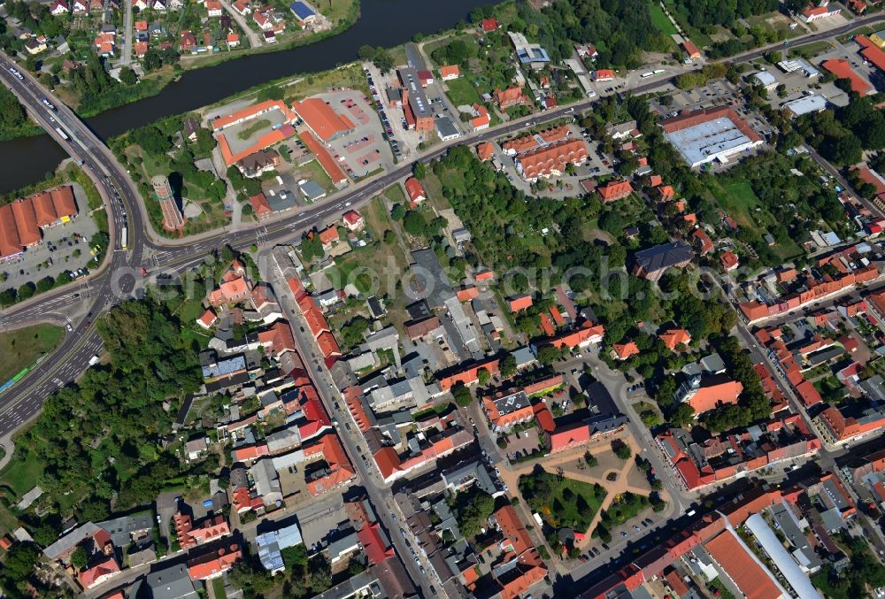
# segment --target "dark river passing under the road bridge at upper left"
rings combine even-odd
[[[340,35],[294,48],[236,58],[186,71],[157,96],[102,112],[87,123],[106,139],[168,114],[194,110],[264,81],[317,73],[357,58],[360,46],[392,47],[416,33],[432,34],[466,19],[492,0],[362,0],[358,21]],[[321,10],[321,9],[320,9]],[[67,155],[49,135],[0,142],[0,193],[41,180]]]

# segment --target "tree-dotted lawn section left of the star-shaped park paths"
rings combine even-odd
[[[519,477],[519,492],[552,528],[570,526],[580,532],[589,528],[605,498],[600,485],[551,474],[540,466]]]

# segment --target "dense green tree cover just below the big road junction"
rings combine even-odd
[[[115,493],[119,508],[148,503],[181,473],[178,458],[163,453],[158,441],[171,430],[174,398],[201,381],[196,353],[181,341],[180,323],[165,306],[122,303],[96,327],[110,364],[89,368],[79,383],[51,395],[16,442],[19,458],[33,452],[42,463],[45,491],[89,495],[81,510],[96,513],[87,518],[106,514]],[[170,411],[162,405],[167,398]]]

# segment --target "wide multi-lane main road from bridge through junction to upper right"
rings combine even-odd
[[[849,24],[813,35],[795,38],[790,45],[815,42],[828,39],[835,35],[843,35],[850,31],[885,20],[885,16],[873,15],[864,19],[854,19]],[[782,44],[773,44],[766,48],[752,50],[729,61],[748,61],[762,56],[766,51],[783,48]],[[40,410],[42,401],[55,389],[75,380],[89,365],[89,358],[101,349],[101,340],[91,328],[90,319],[117,303],[132,296],[137,286],[138,273],[142,267],[144,249],[156,250],[155,272],[181,273],[199,264],[213,250],[230,245],[235,249],[243,249],[260,237],[265,243],[279,243],[295,237],[304,230],[322,225],[328,220],[337,218],[346,208],[358,207],[366,203],[382,189],[402,179],[412,172],[412,164],[405,164],[382,175],[367,184],[358,186],[350,193],[329,199],[326,203],[317,204],[312,208],[300,211],[285,219],[276,220],[271,224],[261,224],[236,232],[221,233],[188,245],[170,245],[169,242],[152,242],[148,237],[150,223],[145,219],[143,207],[138,197],[135,184],[129,178],[112,152],[98,137],[87,128],[81,120],[51,96],[50,92],[24,71],[22,79],[9,71],[12,60],[0,53],[0,79],[19,96],[19,100],[65,150],[78,161],[82,161],[84,171],[96,181],[96,187],[103,196],[104,203],[111,215],[112,256],[105,261],[103,273],[90,281],[94,290],[89,293],[91,304],[89,316],[73,327],[60,347],[35,368],[24,380],[0,395],[0,437],[11,434],[27,420],[32,419]],[[652,81],[631,88],[632,94],[643,94],[673,83],[674,77]],[[42,98],[48,98],[57,107],[50,111],[42,104]],[[422,162],[429,162],[443,155],[451,147],[465,143],[476,143],[496,139],[505,134],[527,127],[541,125],[555,119],[568,117],[575,112],[589,109],[598,98],[582,101],[578,104],[560,107],[553,111],[543,112],[523,119],[492,127],[478,134],[468,134],[454,142],[440,144],[434,150],[420,157]],[[58,134],[60,127],[70,139]],[[127,210],[128,209],[128,210]],[[119,234],[127,227],[128,247],[120,247]],[[14,328],[25,326],[37,321],[50,319],[50,313],[72,302],[81,302],[83,298],[76,285],[59,288],[56,291],[35,298],[35,301],[13,306],[4,312],[4,327]],[[58,318],[60,315],[57,315]]]

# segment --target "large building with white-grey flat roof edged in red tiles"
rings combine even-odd
[[[702,109],[661,121],[666,138],[693,168],[728,160],[763,141],[746,121],[728,106]]]

